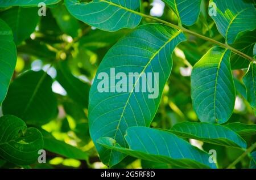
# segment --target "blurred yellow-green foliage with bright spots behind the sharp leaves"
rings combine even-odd
[[[99,160],[89,135],[87,118],[89,87],[106,52],[132,30],[105,32],[95,29],[73,18],[62,3],[47,7],[46,16],[37,19],[35,29],[27,32],[31,33],[30,37],[22,42],[16,41],[18,59],[13,80],[15,81],[27,70],[47,71],[52,78],[52,91],[57,100],[56,114],[41,129],[44,148],[47,150],[47,163],[36,163],[23,168],[106,168]],[[174,12],[164,6],[160,0],[143,0],[141,7],[141,12],[144,14],[177,24]],[[13,8],[16,7],[0,10],[0,18],[5,20],[6,11]],[[26,10],[24,8],[24,11],[28,9],[31,8]],[[204,0],[199,20],[186,28],[224,42],[224,38],[218,33],[207,11],[208,1]],[[141,24],[146,23],[154,22],[143,18]],[[23,27],[23,31],[29,30]],[[151,127],[169,129],[182,121],[199,121],[191,103],[191,69],[213,44],[195,36],[187,35],[187,37],[188,41],[182,42],[175,49],[172,75],[164,88],[162,101]],[[236,70],[236,66],[233,63],[233,75],[236,78],[237,88],[236,105],[228,122],[252,124],[255,123],[256,118],[246,101],[245,87],[242,83],[245,70]],[[248,146],[255,142],[255,136],[243,138],[246,139]],[[243,152],[240,149],[187,140],[205,151],[216,149],[219,168],[226,168]],[[237,164],[237,168],[248,168],[249,162],[249,158],[243,158]],[[0,167],[18,168],[4,160],[0,160]],[[113,168],[175,167],[128,156]]]

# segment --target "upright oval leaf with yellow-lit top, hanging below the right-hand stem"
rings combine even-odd
[[[216,46],[193,67],[192,104],[201,122],[224,123],[233,112],[236,92],[229,58],[230,50]]]

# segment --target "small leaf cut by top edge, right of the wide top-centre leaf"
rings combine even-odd
[[[201,0],[163,0],[175,12],[184,25],[196,23],[200,14]]]

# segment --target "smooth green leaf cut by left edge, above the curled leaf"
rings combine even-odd
[[[5,99],[16,65],[17,53],[13,42],[13,32],[0,19],[0,106]]]

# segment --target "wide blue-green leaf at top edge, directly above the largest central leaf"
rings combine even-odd
[[[133,12],[139,10],[139,0],[93,0],[89,3],[65,0],[64,3],[75,18],[104,31],[135,28],[141,22],[141,16]]]

